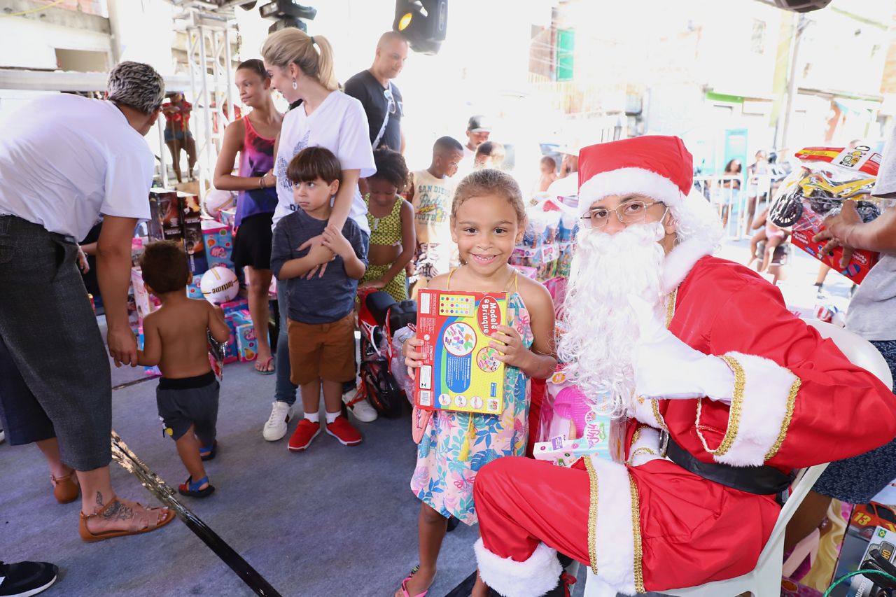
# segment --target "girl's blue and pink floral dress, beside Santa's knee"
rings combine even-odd
[[[533,336],[529,312],[519,292],[513,292],[507,300],[507,316],[523,345],[530,348]],[[417,467],[410,489],[445,518],[453,515],[464,523],[476,523],[473,508],[476,472],[495,458],[526,453],[530,385],[529,378],[520,369],[504,368],[504,396],[506,406],[500,416],[435,411],[429,420],[418,446]],[[461,460],[465,443],[468,443],[469,455]]]

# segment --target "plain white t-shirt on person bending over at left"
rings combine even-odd
[[[148,220],[153,160],[111,101],[36,99],[0,123],[0,213],[76,241],[100,213]]]

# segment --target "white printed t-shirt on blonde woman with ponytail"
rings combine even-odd
[[[376,168],[368,131],[361,102],[342,91],[332,91],[310,116],[306,114],[304,104],[287,112],[280,128],[280,144],[274,162],[278,199],[274,226],[280,218],[298,209],[292,196],[292,183],[286,176],[289,160],[306,147],[325,147],[336,155],[343,170],[360,170],[360,177],[369,177],[375,174]],[[366,204],[356,186],[349,218],[369,235],[366,214]]]

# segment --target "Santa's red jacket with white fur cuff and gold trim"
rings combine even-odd
[[[699,460],[765,463],[789,472],[863,454],[896,437],[892,391],[790,313],[780,290],[758,274],[702,256],[672,300],[669,330],[696,350],[728,357],[735,395],[730,405],[647,400],[635,416],[668,428]]]

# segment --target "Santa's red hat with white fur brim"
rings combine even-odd
[[[607,195],[637,193],[679,207],[694,186],[694,158],[678,137],[646,135],[579,152],[579,215]]]

